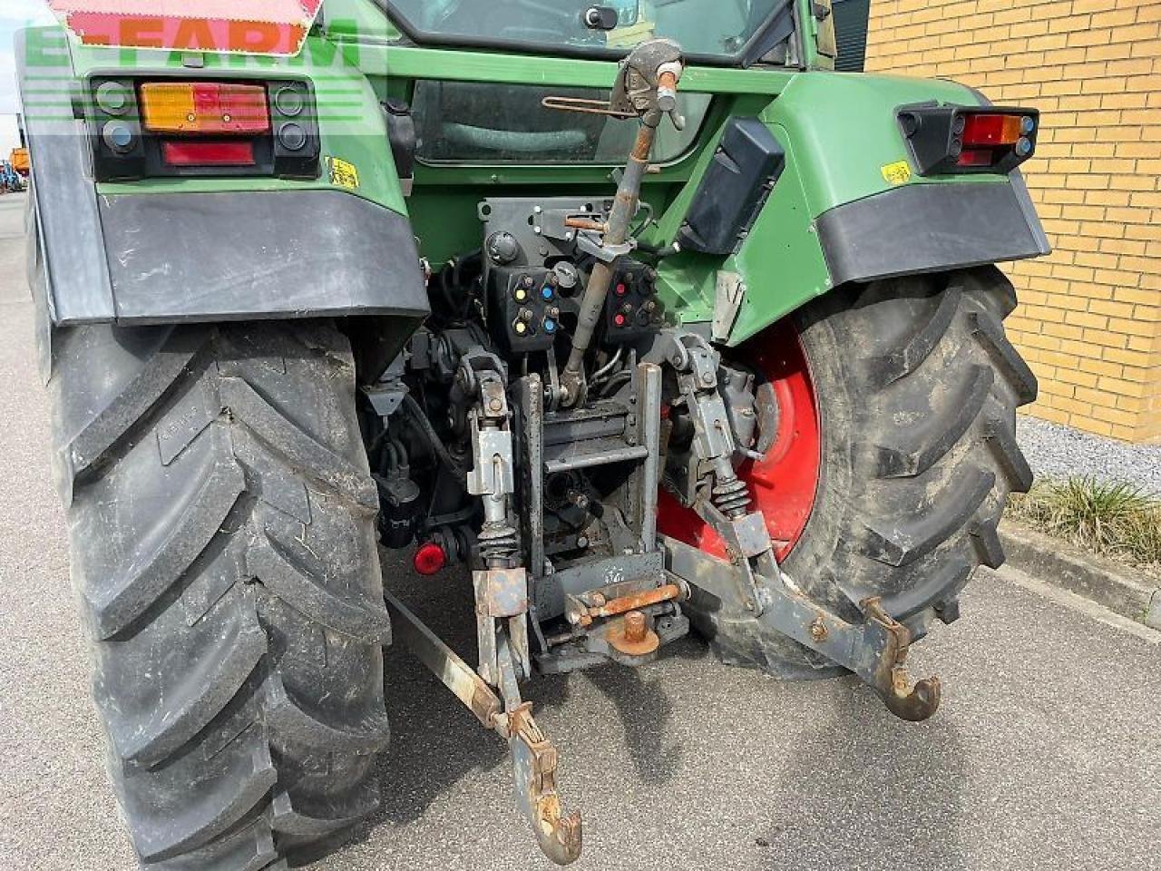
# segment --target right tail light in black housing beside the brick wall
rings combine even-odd
[[[906,106],[899,110],[899,125],[920,175],[1008,173],[1036,153],[1040,113]]]

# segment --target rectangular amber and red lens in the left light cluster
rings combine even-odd
[[[151,81],[140,88],[142,121],[159,134],[265,134],[266,88],[224,82]]]

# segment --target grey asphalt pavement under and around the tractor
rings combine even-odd
[[[104,780],[51,485],[24,283],[0,197],[0,869],[136,868]],[[462,576],[387,577],[462,652]],[[914,726],[857,683],[780,684],[695,640],[528,688],[585,815],[580,871],[1161,869],[1161,633],[1012,570],[913,654],[944,682]],[[547,869],[504,749],[403,650],[388,657],[383,811],[312,871]]]

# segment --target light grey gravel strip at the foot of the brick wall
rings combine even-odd
[[[1128,445],[1024,416],[1016,431],[1037,475],[1127,481],[1161,497],[1161,445]]]

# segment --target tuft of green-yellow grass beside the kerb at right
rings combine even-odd
[[[1014,496],[1009,516],[1090,553],[1161,567],[1161,501],[1132,484],[1043,480]]]

